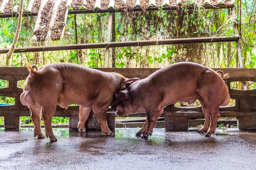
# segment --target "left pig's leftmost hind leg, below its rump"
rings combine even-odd
[[[31,112],[31,120],[34,124],[34,137],[44,138],[40,127],[42,108],[36,104],[29,106]]]

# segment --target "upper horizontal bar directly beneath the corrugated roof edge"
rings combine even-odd
[[[202,6],[204,9],[223,9],[223,8],[233,8],[234,4],[217,4],[217,5],[203,5]],[[182,6],[163,6],[163,7],[148,7],[146,11],[158,11],[158,10],[177,10],[181,9]],[[195,6],[189,6],[188,9],[193,10]],[[76,9],[76,10],[69,10],[68,14],[83,14],[83,13],[108,13],[108,12],[131,12],[131,11],[142,11],[141,7],[134,7],[133,9],[119,9],[116,10],[114,8],[109,8],[109,9],[94,9],[94,10],[88,10],[88,9]],[[29,17],[29,16],[37,16],[38,12],[24,12],[23,16],[24,17]],[[0,14],[0,18],[4,17],[17,17],[18,13],[9,13],[9,14]]]

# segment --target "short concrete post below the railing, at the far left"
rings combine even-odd
[[[5,130],[19,130],[20,129],[20,116],[4,116],[4,129]]]

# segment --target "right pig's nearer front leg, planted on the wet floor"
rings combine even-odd
[[[148,121],[148,128],[146,132],[142,135],[143,139],[148,139],[148,136],[152,135],[153,128],[155,127],[157,123],[157,118],[163,113],[164,108],[160,108],[159,110],[153,110],[150,109],[150,111],[147,112],[147,120]]]

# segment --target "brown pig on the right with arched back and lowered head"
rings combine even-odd
[[[111,111],[116,111],[117,116],[146,112],[146,122],[136,136],[148,139],[165,106],[179,101],[192,104],[198,99],[205,117],[204,126],[198,132],[209,129],[205,136],[211,136],[220,116],[219,106],[230,101],[229,89],[222,79],[226,77],[222,71],[215,72],[197,63],[175,63],[117,92],[119,102]]]

